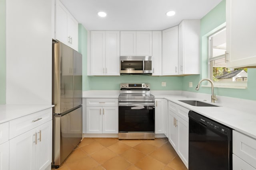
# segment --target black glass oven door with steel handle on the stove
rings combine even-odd
[[[120,102],[121,103],[121,102]],[[119,103],[119,133],[154,133],[154,102]]]

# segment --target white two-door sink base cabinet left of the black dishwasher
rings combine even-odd
[[[188,121],[181,117],[184,117],[180,112],[185,111],[188,113],[188,109],[168,102],[168,116],[169,116],[169,142],[180,156],[182,162],[188,168]]]

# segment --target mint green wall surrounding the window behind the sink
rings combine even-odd
[[[200,75],[184,76],[182,78],[182,90],[190,92],[200,92],[211,94],[211,88],[200,87],[199,91],[195,88],[202,78],[208,77],[208,45],[207,37],[214,33],[218,27],[221,27],[226,22],[226,0],[222,0],[214,9],[212,9],[206,16],[201,19],[201,73]],[[193,87],[189,88],[189,82],[193,82]],[[232,88],[214,88],[214,92],[218,96],[228,96],[234,98],[242,98],[248,100],[256,100],[256,69],[248,69],[248,82],[246,89],[232,89]]]

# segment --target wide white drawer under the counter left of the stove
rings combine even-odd
[[[86,106],[118,106],[118,99],[86,99]]]

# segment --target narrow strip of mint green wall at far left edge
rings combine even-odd
[[[0,104],[6,104],[6,0],[0,0]]]

